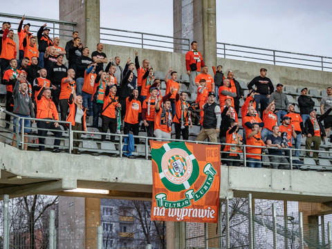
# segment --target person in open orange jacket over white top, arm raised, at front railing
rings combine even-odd
[[[68,99],[69,104],[69,114],[67,118],[67,122],[71,122],[73,131],[86,131],[86,108],[83,107],[83,99],[81,95],[77,95],[74,98],[75,87],[71,86],[71,95]],[[73,154],[77,154],[78,149],[76,147],[80,147],[80,140],[82,133],[74,132],[73,133]]]

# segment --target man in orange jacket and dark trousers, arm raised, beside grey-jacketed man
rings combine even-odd
[[[58,122],[50,122],[48,120],[59,120],[59,114],[57,113],[57,107],[55,107],[54,102],[50,99],[50,89],[45,89],[46,82],[44,82],[44,85],[42,89],[39,90],[39,93],[37,95],[37,117],[41,120],[37,121],[37,127],[38,129],[38,137],[39,137],[39,151],[44,151],[45,146],[45,138],[42,138],[41,136],[46,136],[47,130],[46,129],[52,129],[51,132],[54,133],[55,138],[61,138],[62,137],[62,131],[59,127]],[[44,129],[44,130],[41,130]],[[55,131],[54,131],[55,130]],[[59,145],[60,140],[55,139],[54,141],[54,149],[53,152],[59,152]]]

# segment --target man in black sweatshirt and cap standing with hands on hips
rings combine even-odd
[[[263,111],[268,106],[268,98],[270,98],[270,93],[273,93],[275,90],[271,80],[266,77],[266,68],[261,68],[261,75],[252,79],[248,84],[248,89],[253,89],[255,85],[257,87],[255,101],[256,101],[256,110],[258,112],[259,103],[261,104],[261,117],[263,117]]]

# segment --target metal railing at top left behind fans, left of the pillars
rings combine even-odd
[[[0,23],[3,21],[10,21],[11,29],[17,33],[17,28],[19,26],[19,22],[21,21],[21,15],[13,15],[0,12]],[[75,30],[75,26],[77,23],[73,21],[60,21],[55,19],[46,19],[41,17],[29,17],[26,16],[24,20],[24,24],[30,23],[30,33],[33,33],[37,37],[37,32],[39,28],[45,23],[48,24],[46,28],[50,29],[50,37],[62,36],[62,37],[72,37],[72,33]],[[51,24],[51,26],[49,26]],[[23,28],[23,26],[22,26]]]

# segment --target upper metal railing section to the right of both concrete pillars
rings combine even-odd
[[[332,57],[308,55],[268,48],[257,48],[237,44],[216,43],[217,57],[239,59],[279,66],[298,66],[321,71],[332,70]]]

